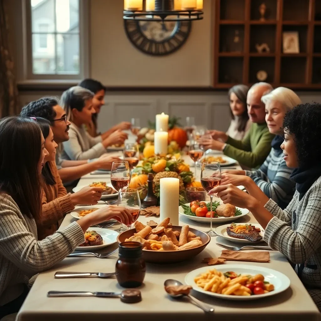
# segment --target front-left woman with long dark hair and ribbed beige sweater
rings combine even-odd
[[[72,253],[91,225],[115,216],[133,222],[127,210],[106,206],[38,241],[41,169],[48,156],[44,144],[36,121],[18,116],[0,120],[0,319],[19,310],[28,279]]]

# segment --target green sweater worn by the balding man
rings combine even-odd
[[[271,150],[273,137],[266,123],[253,123],[243,140],[229,137],[223,152],[224,155],[237,160],[242,165],[258,168]]]

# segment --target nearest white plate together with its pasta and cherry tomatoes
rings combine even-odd
[[[226,300],[256,300],[276,295],[290,287],[289,278],[267,267],[223,264],[201,267],[185,277],[193,290]]]

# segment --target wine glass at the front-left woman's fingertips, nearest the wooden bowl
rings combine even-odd
[[[131,213],[131,215],[133,216],[134,222],[137,221],[141,211],[141,201],[138,190],[134,188],[121,190],[118,196],[118,206],[126,207],[129,213]],[[121,228],[122,227],[123,224]],[[127,225],[127,229],[129,229],[130,227],[131,224]]]

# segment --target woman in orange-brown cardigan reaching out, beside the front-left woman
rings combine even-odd
[[[38,240],[56,232],[59,227],[59,220],[64,218],[66,213],[72,211],[77,204],[97,204],[100,200],[102,189],[97,187],[84,187],[79,192],[67,194],[62,184],[56,167],[56,148],[54,135],[50,128],[50,122],[41,117],[35,119],[41,128],[45,138],[45,148],[49,155],[44,159],[42,169],[43,191],[42,191],[42,215],[41,222],[37,223]]]

